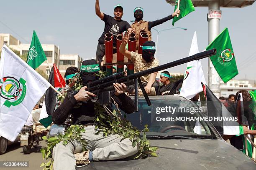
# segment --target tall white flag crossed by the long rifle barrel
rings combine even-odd
[[[198,53],[197,46],[197,33],[195,32],[192,44],[189,51],[189,56]],[[199,92],[203,91],[201,82],[206,84],[205,76],[202,70],[202,65],[200,60],[195,60],[187,63],[187,69],[184,74],[184,80],[182,83],[182,88],[180,90],[180,95],[191,99]]]

